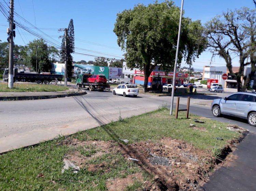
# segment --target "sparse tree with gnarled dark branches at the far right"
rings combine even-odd
[[[213,57],[218,55],[226,62],[230,75],[237,80],[238,91],[246,89],[250,78],[254,77],[256,52],[256,17],[255,10],[241,8],[227,11],[214,17],[205,25],[205,35],[208,38],[208,47]],[[237,73],[232,70],[233,57],[239,58],[240,68]],[[246,62],[247,58],[251,58]],[[254,62],[253,62],[254,61]],[[252,73],[246,82],[242,83],[244,68],[252,65]]]

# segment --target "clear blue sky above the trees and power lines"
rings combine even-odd
[[[5,7],[9,6],[8,0],[0,0]],[[8,4],[6,5],[5,2]],[[158,1],[162,2],[162,1]],[[176,6],[181,6],[181,0],[174,0]],[[76,52],[90,54],[94,56],[104,56],[108,58],[120,59],[123,52],[118,47],[117,37],[113,32],[116,14],[125,9],[133,8],[134,5],[143,3],[148,5],[154,3],[153,0],[14,0],[15,12],[41,31],[33,29],[29,24],[15,15],[14,19],[28,27],[30,30],[39,33],[45,39],[60,46],[61,39],[58,36],[59,28],[67,28],[70,19],[74,21],[75,47],[86,50],[76,50]],[[214,16],[221,14],[228,9],[234,10],[243,6],[255,8],[253,0],[184,0],[185,17],[192,20],[201,20],[202,24],[209,21]],[[0,40],[6,41],[8,22],[4,15],[0,13]],[[48,36],[47,36],[48,35]],[[17,45],[26,45],[29,41],[37,37],[16,27]],[[93,56],[73,55],[74,61],[94,60]],[[210,64],[211,54],[204,52],[193,64],[195,69],[202,69],[204,65]],[[224,60],[215,58],[212,66],[223,66]],[[238,66],[236,60],[234,66]],[[184,64],[182,66],[185,66]]]

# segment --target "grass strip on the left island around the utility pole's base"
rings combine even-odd
[[[44,85],[44,84],[13,84],[13,89],[8,88],[8,83],[0,82],[0,92],[24,92],[24,91],[64,91],[68,90],[68,87],[55,86],[55,85]]]

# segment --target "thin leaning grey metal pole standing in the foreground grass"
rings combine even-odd
[[[175,87],[175,80],[176,80],[177,60],[178,60],[179,45],[180,45],[180,36],[181,36],[181,19],[182,19],[182,12],[183,12],[183,0],[181,0],[181,15],[180,15],[179,33],[178,33],[178,41],[177,41],[177,49],[176,49],[175,64],[174,64],[174,70],[173,70],[172,97],[171,97],[170,115],[172,115],[172,108],[173,108],[174,87]]]

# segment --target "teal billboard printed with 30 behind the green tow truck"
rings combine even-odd
[[[74,76],[77,74],[101,74],[109,78],[109,67],[105,66],[89,66],[85,64],[74,65]]]

